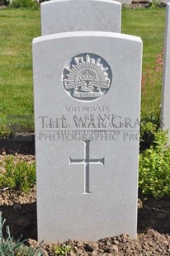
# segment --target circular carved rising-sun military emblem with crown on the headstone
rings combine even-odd
[[[98,55],[77,55],[64,67],[63,84],[71,97],[89,102],[104,95],[111,87],[111,69]]]

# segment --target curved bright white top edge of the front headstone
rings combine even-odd
[[[73,32],[56,33],[56,34],[35,37],[32,40],[32,43],[36,44],[45,40],[53,40],[53,39],[66,38],[66,37],[83,37],[83,36],[112,37],[117,39],[133,40],[133,41],[142,43],[142,40],[139,36],[130,36],[126,34],[104,32],[104,31],[73,31]]]

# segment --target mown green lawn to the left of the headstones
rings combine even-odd
[[[33,116],[31,41],[40,36],[40,11],[0,10],[0,123]],[[26,127],[33,130],[33,121]]]

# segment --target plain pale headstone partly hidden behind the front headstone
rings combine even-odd
[[[120,33],[121,5],[111,0],[54,0],[41,3],[42,36],[69,31]]]

